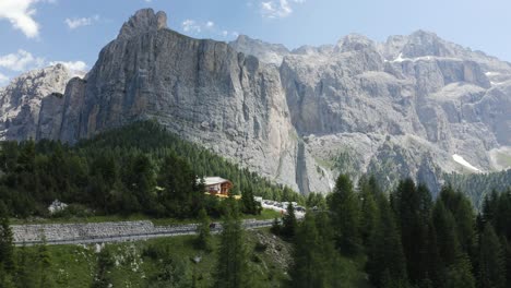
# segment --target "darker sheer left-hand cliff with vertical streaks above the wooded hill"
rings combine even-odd
[[[44,101],[38,135],[74,143],[138,119],[156,119],[297,189],[298,137],[278,69],[224,43],[166,29],[165,20],[163,12],[136,12],[102,50],[86,81],[73,80],[62,99]]]

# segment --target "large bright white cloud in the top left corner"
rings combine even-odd
[[[36,13],[34,4],[41,0],[1,0],[0,19],[7,19],[15,29],[28,38],[39,35],[39,24],[33,19]]]

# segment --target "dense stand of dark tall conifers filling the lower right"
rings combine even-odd
[[[436,200],[403,180],[390,195],[373,178],[335,190],[309,209],[293,242],[288,287],[341,287],[340,257],[367,259],[375,287],[509,287],[511,192],[492,193],[476,215],[470,200],[444,187]]]

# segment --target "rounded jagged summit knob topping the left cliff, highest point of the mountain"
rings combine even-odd
[[[129,39],[135,35],[162,28],[167,28],[167,14],[165,12],[158,11],[154,13],[154,10],[151,8],[141,9],[122,25],[117,38]]]

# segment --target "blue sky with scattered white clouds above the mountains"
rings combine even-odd
[[[509,0],[0,0],[0,85],[58,61],[91,69],[141,8],[165,11],[170,28],[198,38],[246,34],[296,48],[421,28],[511,61]]]

